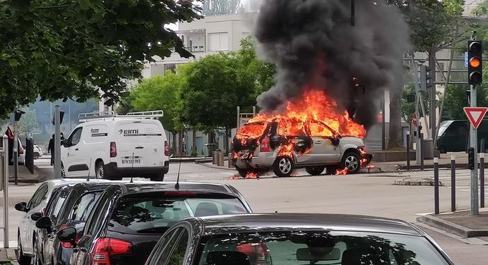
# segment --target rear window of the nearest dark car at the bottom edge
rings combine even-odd
[[[420,236],[363,232],[251,232],[206,236],[195,265],[448,265]],[[240,263],[235,263],[240,264]]]

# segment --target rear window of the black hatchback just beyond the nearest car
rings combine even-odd
[[[164,232],[184,218],[236,213],[248,213],[237,198],[122,197],[112,213],[109,229],[125,233]]]

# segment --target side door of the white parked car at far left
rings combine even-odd
[[[22,248],[24,252],[27,254],[31,254],[33,252],[33,234],[34,229],[36,229],[36,222],[31,219],[31,214],[40,211],[39,206],[43,202],[43,199],[47,196],[47,192],[49,191],[49,185],[47,183],[43,183],[39,186],[39,188],[34,192],[31,199],[27,203],[27,213],[22,218],[22,221],[19,225],[20,229],[20,239],[22,241]]]

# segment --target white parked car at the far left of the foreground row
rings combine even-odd
[[[17,202],[15,209],[25,213],[17,227],[17,261],[20,265],[31,264],[36,255],[38,236],[43,232],[36,228],[36,221],[44,215],[57,218],[61,205],[66,199],[66,188],[73,187],[84,179],[56,179],[40,184],[29,202]],[[40,234],[39,234],[40,233]],[[36,261],[34,257],[34,261]],[[35,264],[35,263],[34,263]]]

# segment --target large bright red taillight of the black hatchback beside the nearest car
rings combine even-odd
[[[132,243],[120,239],[97,239],[90,254],[91,264],[110,265],[110,257],[132,253]]]

